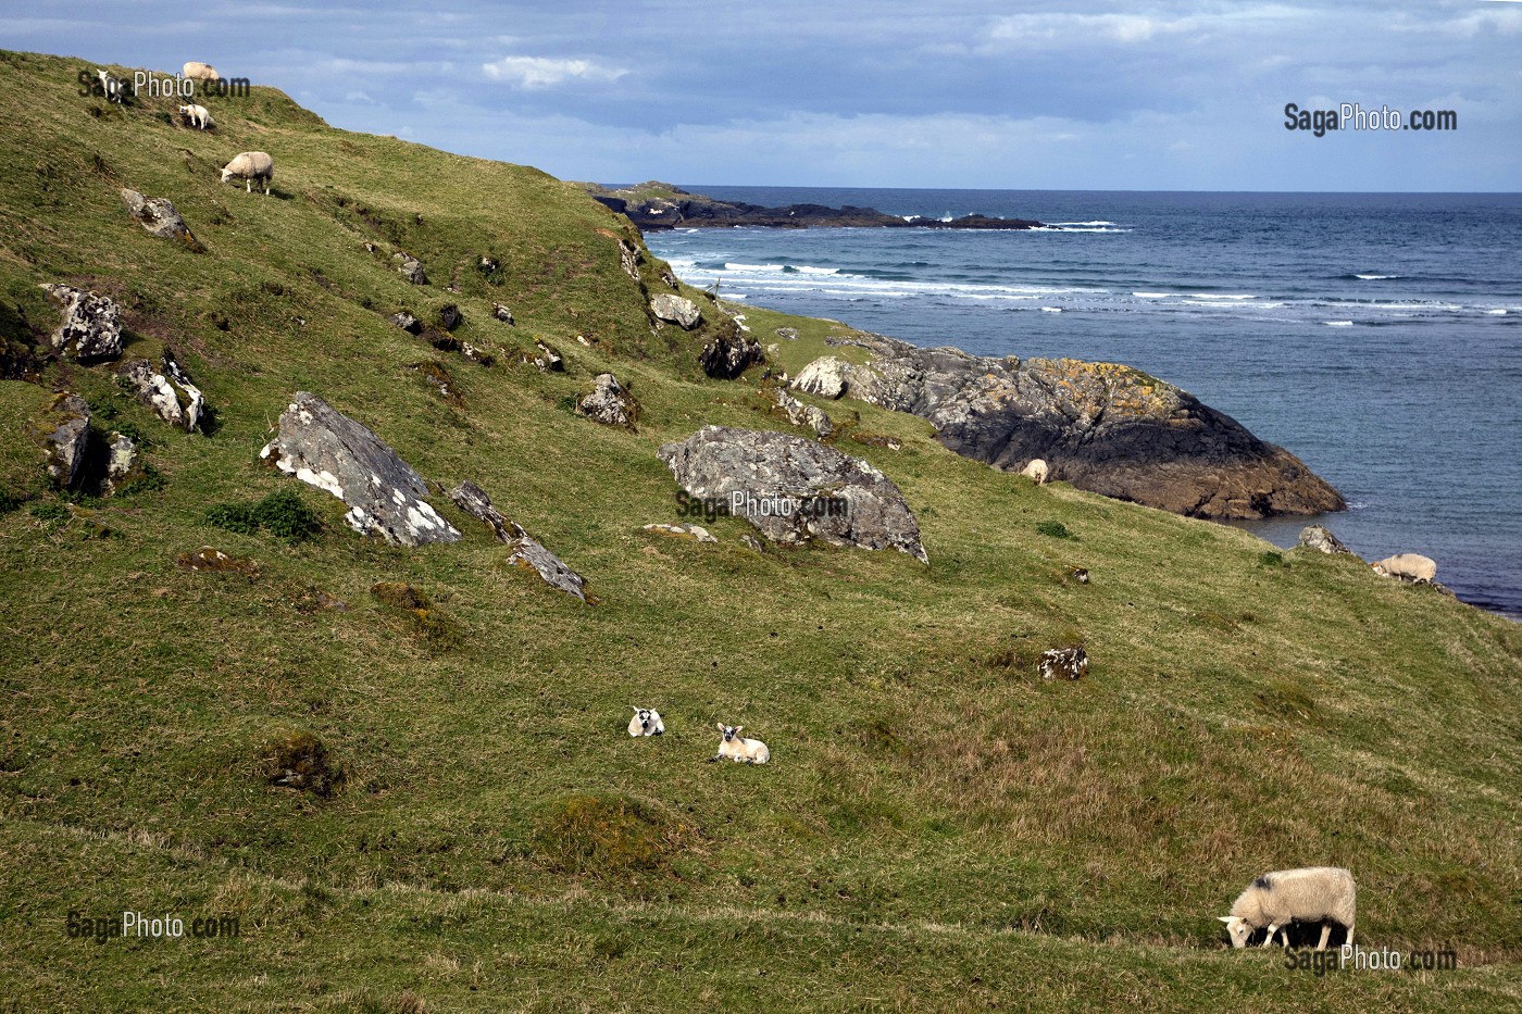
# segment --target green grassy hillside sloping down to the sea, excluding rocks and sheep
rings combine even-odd
[[[167,100],[76,96],[81,61],[0,56],[5,338],[52,329],[38,283],[108,292],[128,353],[169,344],[216,411],[212,435],[172,431],[110,367],[0,381],[11,1009],[1522,1003],[1517,624],[1353,560],[1035,487],[846,402],[817,403],[904,490],[930,566],[756,554],[738,519],[711,525],[718,545],[645,534],[676,521],[661,443],[790,428],[755,376],[702,376],[702,333],[650,326],[619,269],[633,231],[578,187],[336,131],[268,88],[198,132]],[[244,149],[274,155],[275,195],[219,183]],[[170,198],[207,251],[145,233],[123,186]],[[394,250],[432,285],[403,282]],[[658,269],[647,254],[651,292]],[[444,303],[495,365],[382,317]],[[778,352],[793,371],[849,330],[743,312],[763,341],[799,329]],[[565,375],[517,361],[536,338]],[[569,411],[609,368],[642,402],[638,432]],[[146,437],[163,481],[49,490],[23,429],[55,388]],[[600,604],[507,566],[443,496],[458,544],[353,534],[336,499],[257,460],[297,390],[429,480],[482,486]],[[277,490],[317,537],[207,524]],[[257,576],[177,569],[207,544]],[[431,623],[376,582],[412,583]],[[1043,684],[1032,653],[1071,638],[1090,678]],[[632,741],[630,705],[668,734]],[[715,720],[772,764],[702,763]],[[265,776],[300,734],[344,772],[329,796]],[[1256,874],[1320,863],[1358,878],[1361,944],[1452,947],[1460,968],[1320,977],[1224,950],[1215,917]],[[240,936],[65,933],[70,910],[123,909],[233,914]]]

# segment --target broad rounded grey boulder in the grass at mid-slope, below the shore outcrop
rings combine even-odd
[[[834,448],[781,432],[703,426],[659,455],[689,496],[743,515],[776,542],[895,548],[930,562],[898,487]]]

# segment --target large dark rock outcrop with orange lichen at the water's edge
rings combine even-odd
[[[988,359],[877,335],[846,391],[935,423],[942,445],[994,467],[1032,458],[1116,499],[1195,518],[1344,510],[1342,496],[1283,448],[1170,384],[1110,362]]]

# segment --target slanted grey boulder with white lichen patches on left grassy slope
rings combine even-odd
[[[428,484],[367,428],[321,397],[297,391],[263,451],[275,467],[349,504],[349,527],[396,545],[455,542],[460,533],[428,502]]]

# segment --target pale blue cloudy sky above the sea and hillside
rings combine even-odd
[[[569,180],[1522,190],[1522,3],[43,0],[0,47],[272,85]],[[426,8],[426,9],[425,9]],[[1286,128],[1452,110],[1457,129]]]

